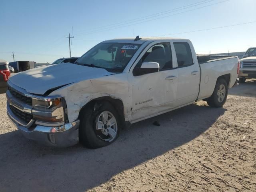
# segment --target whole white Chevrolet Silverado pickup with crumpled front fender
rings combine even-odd
[[[27,138],[48,146],[106,146],[132,123],[206,100],[221,107],[236,84],[237,57],[198,63],[190,40],[106,40],[74,64],[8,80],[7,114]]]

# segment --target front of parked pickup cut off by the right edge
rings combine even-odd
[[[256,47],[248,48],[240,60],[239,83],[256,78]]]

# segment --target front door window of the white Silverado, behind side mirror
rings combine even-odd
[[[152,46],[142,56],[143,62],[157,62],[159,63],[159,70],[167,70],[172,68],[172,52],[170,43],[160,43]]]

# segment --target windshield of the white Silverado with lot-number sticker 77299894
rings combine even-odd
[[[100,43],[80,57],[75,64],[122,72],[140,44]]]

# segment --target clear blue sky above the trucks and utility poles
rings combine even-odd
[[[255,10],[256,0],[1,0],[0,58],[12,62],[12,52],[15,60],[35,62],[68,57],[64,36],[72,27],[72,56],[134,34],[189,38],[197,53],[246,51],[256,46]],[[254,23],[182,33],[246,22]]]

